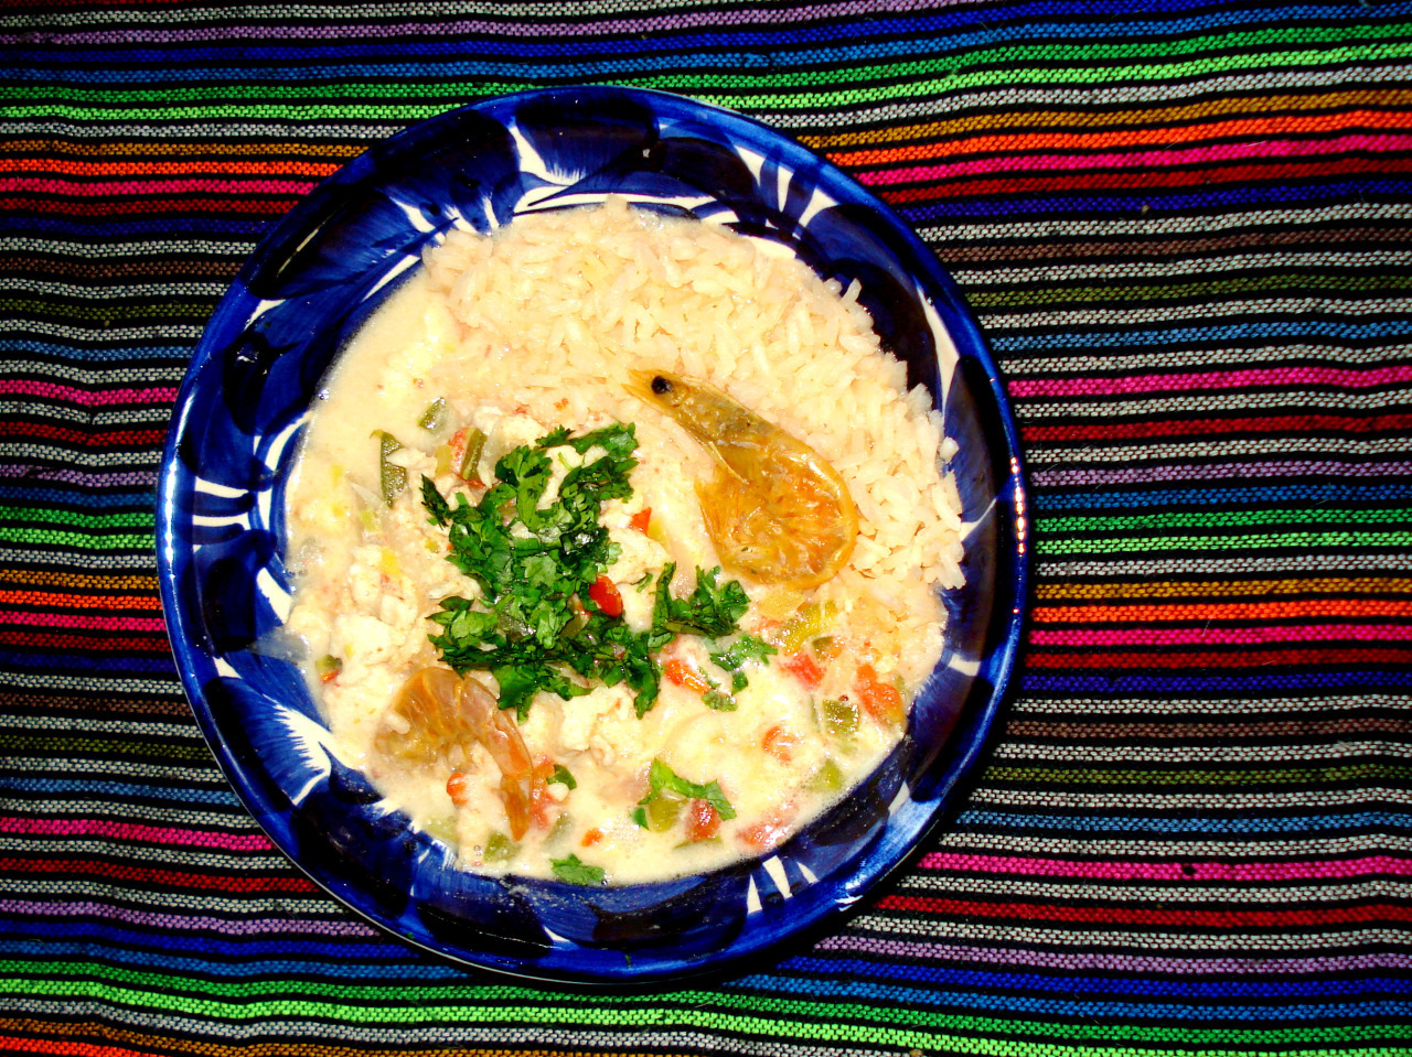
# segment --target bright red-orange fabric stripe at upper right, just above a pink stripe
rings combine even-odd
[[[1012,154],[1018,151],[1097,151],[1114,147],[1190,147],[1209,140],[1262,140],[1275,135],[1309,135],[1341,130],[1406,128],[1406,114],[1381,110],[1353,110],[1309,117],[1243,117],[1231,121],[1180,128],[1117,128],[1113,131],[1024,131],[1007,135],[976,135],[950,143],[911,144],[887,150],[840,151],[827,157],[834,164],[891,165],[907,161],[956,158],[969,154]]]

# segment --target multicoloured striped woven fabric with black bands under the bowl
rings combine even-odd
[[[1412,1040],[1412,3],[47,0],[0,10],[0,1050],[1360,1054]],[[244,813],[154,481],[270,224],[431,114],[661,87],[952,270],[1035,524],[1014,700],[837,931],[655,995],[384,936]]]

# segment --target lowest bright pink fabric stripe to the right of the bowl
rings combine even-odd
[[[1086,859],[1029,859],[962,855],[938,851],[923,855],[922,869],[952,874],[1011,874],[1039,878],[1091,881],[1220,881],[1252,883],[1269,881],[1344,881],[1348,878],[1412,876],[1412,859],[1365,855],[1329,862],[1094,862]]]

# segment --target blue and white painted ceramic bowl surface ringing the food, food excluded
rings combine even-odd
[[[289,604],[284,485],[321,380],[422,247],[531,205],[626,195],[775,238],[861,282],[884,344],[945,412],[959,454],[966,586],[907,737],[843,803],[767,857],[700,876],[587,889],[455,869],[322,748],[288,660],[261,649]],[[873,195],[778,133],[654,92],[491,99],[374,147],[261,243],[196,349],[158,504],[162,601],[222,769],[270,838],[329,893],[412,943],[522,979],[634,985],[740,965],[836,926],[943,816],[987,737],[1019,642],[1019,452],[990,354],[931,251]],[[758,965],[760,961],[753,964]]]

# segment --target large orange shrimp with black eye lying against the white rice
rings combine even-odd
[[[675,419],[716,461],[696,483],[727,569],[762,584],[818,587],[847,563],[858,512],[839,471],[724,392],[666,371],[631,371],[628,392]]]

